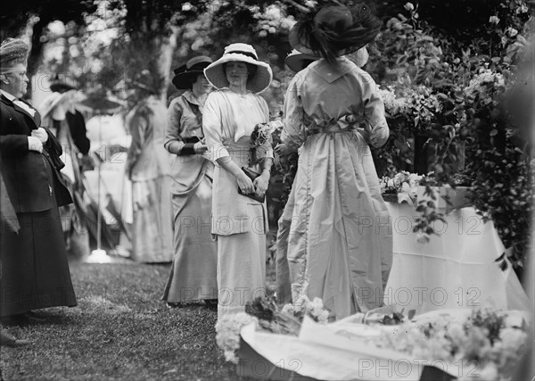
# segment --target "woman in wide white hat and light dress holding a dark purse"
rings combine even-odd
[[[266,203],[246,195],[265,195],[273,150],[253,170],[248,167],[251,133],[256,124],[268,122],[268,104],[258,94],[266,90],[273,74],[259,62],[247,44],[226,46],[225,54],[204,74],[218,90],[204,104],[202,128],[211,159],[216,162],[212,194],[211,232],[218,239],[218,318],[244,310],[246,302],[265,294]],[[243,194],[238,193],[241,190]]]

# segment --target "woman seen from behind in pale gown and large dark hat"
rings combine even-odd
[[[380,26],[364,5],[329,5],[290,33],[292,47],[322,57],[292,79],[284,100],[282,141],[302,145],[287,253],[292,299],[319,297],[336,319],[382,305],[391,269],[391,220],[368,146],[389,136],[383,101],[343,56]]]

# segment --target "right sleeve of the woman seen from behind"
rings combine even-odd
[[[381,95],[377,92],[374,79],[365,72],[362,80],[362,98],[364,102],[364,117],[372,127],[370,144],[380,147],[386,143],[390,130],[384,116],[384,104]]]

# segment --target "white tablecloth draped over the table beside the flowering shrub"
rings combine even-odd
[[[492,222],[483,223],[472,207],[437,221],[430,242],[420,244],[412,227],[418,213],[405,203],[387,203],[391,212],[394,256],[385,303],[416,313],[443,309],[494,307],[531,310],[510,263],[495,261],[505,251]]]

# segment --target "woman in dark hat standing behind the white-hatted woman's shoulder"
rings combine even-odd
[[[164,146],[175,155],[171,195],[175,256],[162,300],[178,302],[218,299],[218,246],[210,233],[214,164],[202,154],[202,112],[211,85],[203,69],[213,60],[193,57],[175,70],[173,84],[184,94],[169,104]]]

